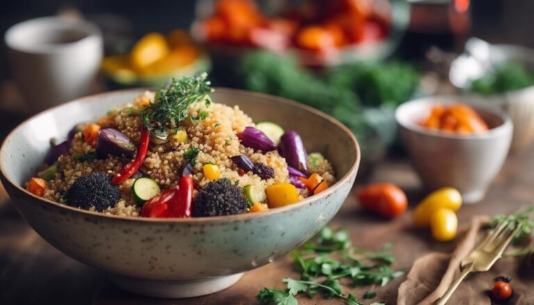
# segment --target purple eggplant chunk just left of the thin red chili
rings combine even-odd
[[[97,156],[107,158],[108,155],[127,156],[133,158],[136,152],[136,145],[133,145],[130,138],[117,129],[102,129],[98,134]]]

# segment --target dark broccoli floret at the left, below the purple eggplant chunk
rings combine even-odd
[[[120,191],[104,172],[92,172],[76,178],[63,199],[69,206],[86,210],[94,206],[97,211],[104,211],[115,206],[120,199]]]

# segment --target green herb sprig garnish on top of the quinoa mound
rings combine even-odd
[[[178,122],[188,117],[189,108],[200,101],[210,104],[209,93],[213,92],[207,74],[197,78],[172,79],[156,92],[154,104],[143,110],[141,118],[152,133],[164,133],[177,129]],[[200,114],[199,114],[200,116]]]

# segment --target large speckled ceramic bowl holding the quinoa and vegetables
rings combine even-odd
[[[243,272],[273,262],[314,236],[353,186],[359,147],[341,123],[293,101],[220,88],[212,95],[214,101],[238,105],[256,122],[270,120],[298,131],[309,151],[320,151],[332,162],[337,183],[265,213],[193,219],[103,215],[24,190],[24,182],[41,167],[50,138],[65,137],[74,124],[95,121],[141,91],[97,94],[46,110],[17,126],[0,150],[0,178],[22,217],[51,245],[104,270],[124,290],[194,297],[227,288]]]

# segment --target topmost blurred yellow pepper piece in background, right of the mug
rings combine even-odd
[[[169,46],[165,36],[160,33],[148,33],[131,49],[131,65],[138,72],[143,72],[143,69],[164,58],[168,53]]]

